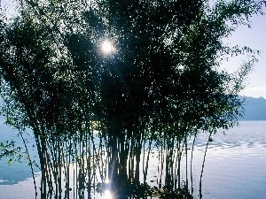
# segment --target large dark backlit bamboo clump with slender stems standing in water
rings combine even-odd
[[[42,178],[35,198],[93,198],[106,189],[113,198],[192,198],[197,134],[236,123],[239,91],[254,64],[253,50],[223,38],[261,4],[17,4],[16,18],[1,12],[2,114],[20,130],[27,155],[23,131],[32,131],[38,158],[27,159]],[[221,60],[239,53],[250,56],[239,72],[223,71]]]

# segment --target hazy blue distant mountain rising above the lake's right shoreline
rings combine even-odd
[[[263,97],[247,97],[244,109],[245,115],[239,120],[266,120],[266,99]]]

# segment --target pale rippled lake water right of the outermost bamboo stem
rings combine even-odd
[[[203,173],[205,199],[266,198],[266,121],[215,134]],[[200,164],[200,163],[199,163]]]

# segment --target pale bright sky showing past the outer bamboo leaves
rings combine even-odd
[[[0,0],[2,6],[12,2],[12,0]],[[262,11],[266,12],[266,3],[262,5]],[[12,12],[14,8],[11,7]],[[246,80],[246,88],[241,92],[243,96],[264,97],[266,99],[266,14],[254,15],[250,19],[251,28],[239,27],[230,38],[225,40],[231,46],[248,46],[252,50],[261,50],[257,55],[258,62],[254,65],[254,70]],[[230,59],[230,62],[224,63],[223,68],[230,73],[236,71],[243,62],[244,57]]]

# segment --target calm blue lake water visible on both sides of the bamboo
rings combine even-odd
[[[1,125],[0,142],[12,138],[18,141],[16,132]],[[206,141],[207,134],[200,134],[193,153],[196,198]],[[7,165],[6,161],[0,160],[0,198],[34,198],[33,180],[27,164],[12,162]],[[266,121],[240,121],[239,126],[225,134],[221,132],[213,136],[207,149],[202,195],[204,199],[266,198]]]

